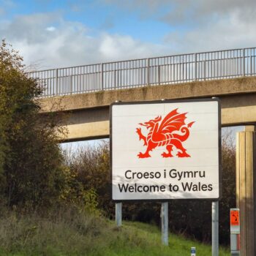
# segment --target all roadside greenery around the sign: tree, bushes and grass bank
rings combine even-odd
[[[0,255],[211,255],[211,202],[173,201],[170,246],[161,246],[158,203],[124,203],[113,223],[109,143],[63,152],[58,112],[40,113],[43,85],[0,45]],[[229,244],[235,150],[223,139],[220,242]],[[140,222],[144,222],[140,223]],[[148,223],[148,224],[146,224]],[[221,255],[228,252],[222,250]]]

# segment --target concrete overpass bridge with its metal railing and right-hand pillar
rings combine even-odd
[[[241,255],[256,255],[256,48],[189,53],[31,72],[44,112],[70,111],[67,141],[108,138],[116,100],[219,97],[222,127],[245,125],[236,154]],[[54,106],[58,108],[54,108]]]

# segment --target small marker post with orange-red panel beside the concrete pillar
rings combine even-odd
[[[232,256],[240,255],[240,211],[230,209],[230,250]]]

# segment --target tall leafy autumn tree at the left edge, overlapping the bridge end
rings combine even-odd
[[[64,187],[59,127],[42,119],[42,87],[25,72],[23,59],[3,40],[0,46],[0,191],[8,206],[49,206]],[[43,123],[42,123],[43,120]]]

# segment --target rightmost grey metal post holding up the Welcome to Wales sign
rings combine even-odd
[[[219,256],[219,202],[211,203],[211,252]]]

